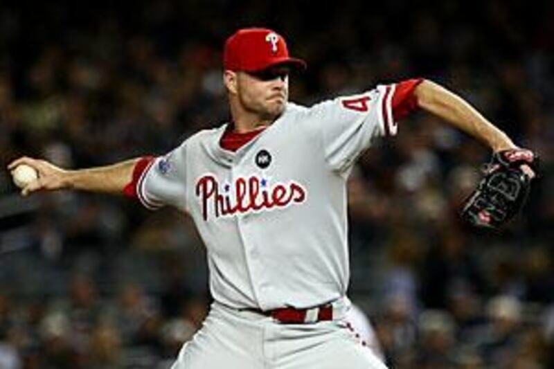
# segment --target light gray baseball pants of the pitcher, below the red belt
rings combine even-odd
[[[340,318],[282,324],[213,303],[172,369],[386,369]]]

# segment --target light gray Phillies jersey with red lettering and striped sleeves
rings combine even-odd
[[[394,135],[395,84],[313,107],[288,103],[236,152],[227,125],[188,138],[145,168],[148,208],[189,213],[207,248],[213,298],[262,310],[314,307],[346,294],[346,181],[379,136]]]

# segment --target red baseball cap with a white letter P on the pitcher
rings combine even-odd
[[[273,30],[242,28],[225,42],[224,69],[259,72],[280,64],[306,69],[303,60],[289,57],[285,39]]]

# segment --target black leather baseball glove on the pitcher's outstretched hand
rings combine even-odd
[[[481,228],[499,228],[524,206],[531,177],[521,169],[528,165],[537,171],[537,159],[530,150],[495,152],[485,166],[485,177],[465,200],[462,218]]]

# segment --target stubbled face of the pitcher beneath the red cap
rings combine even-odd
[[[274,66],[259,73],[237,72],[237,96],[242,107],[262,119],[278,118],[289,99],[289,69]]]

